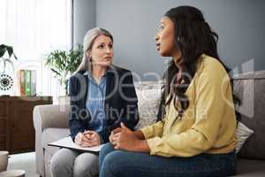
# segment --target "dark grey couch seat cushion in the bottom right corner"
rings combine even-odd
[[[238,158],[237,175],[239,177],[265,176],[265,161]]]

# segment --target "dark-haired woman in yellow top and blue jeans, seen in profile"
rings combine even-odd
[[[100,151],[100,176],[232,175],[237,119],[217,35],[191,6],[170,9],[159,26],[156,49],[172,57],[162,119],[134,132],[124,124],[112,131],[111,143]]]

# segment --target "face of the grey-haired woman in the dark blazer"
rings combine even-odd
[[[113,42],[109,36],[99,35],[95,38],[91,52],[87,55],[92,58],[93,65],[110,66],[113,60]]]

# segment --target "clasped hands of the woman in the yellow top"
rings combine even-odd
[[[134,133],[128,127],[125,127],[124,123],[121,123],[121,127],[111,132],[110,142],[115,150],[149,152],[148,143],[142,137],[144,136],[140,131]]]

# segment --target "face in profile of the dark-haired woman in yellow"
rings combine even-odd
[[[163,57],[172,57],[177,49],[174,45],[174,23],[168,17],[163,17],[159,23],[159,31],[155,35],[156,50]]]

